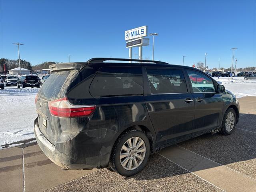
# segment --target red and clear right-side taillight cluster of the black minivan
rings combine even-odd
[[[68,98],[66,97],[48,102],[48,107],[50,113],[58,117],[90,116],[96,109],[95,105],[72,105],[68,102]]]

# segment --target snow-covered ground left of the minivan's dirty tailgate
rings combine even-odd
[[[34,138],[34,134],[8,134],[8,131],[33,131],[36,118],[35,96],[39,88],[17,89],[5,87],[0,90],[0,148],[21,140]],[[22,143],[21,143],[22,144]],[[16,144],[18,145],[18,144]]]

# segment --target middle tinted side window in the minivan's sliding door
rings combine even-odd
[[[188,92],[182,70],[147,68],[147,74],[153,94]]]

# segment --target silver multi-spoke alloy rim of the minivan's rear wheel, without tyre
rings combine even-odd
[[[146,155],[145,142],[140,137],[128,139],[120,152],[120,163],[126,170],[134,170],[142,164]]]

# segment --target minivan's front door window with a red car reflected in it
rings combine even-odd
[[[215,92],[212,79],[196,70],[187,70],[194,93]]]

